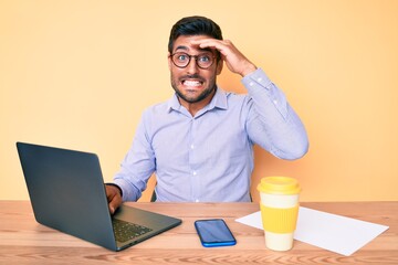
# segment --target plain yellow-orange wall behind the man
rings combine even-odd
[[[191,14],[218,22],[307,128],[301,160],[255,149],[253,188],[284,174],[303,201],[398,200],[395,0],[0,0],[0,200],[28,199],[15,141],[96,152],[111,181],[143,109],[172,94],[168,34]],[[227,67],[219,84],[244,93]]]

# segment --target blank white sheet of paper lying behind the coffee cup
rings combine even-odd
[[[263,230],[260,211],[235,221]],[[386,230],[386,225],[301,206],[294,239],[349,256]]]

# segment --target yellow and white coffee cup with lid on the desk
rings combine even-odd
[[[258,186],[265,245],[273,251],[293,247],[293,234],[298,216],[297,180],[289,177],[266,177]]]

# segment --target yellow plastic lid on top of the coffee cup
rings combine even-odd
[[[290,177],[266,177],[262,178],[258,190],[271,194],[297,194],[301,191],[298,181]]]

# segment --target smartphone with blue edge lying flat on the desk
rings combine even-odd
[[[222,219],[197,220],[195,227],[206,247],[235,245],[237,240]]]

